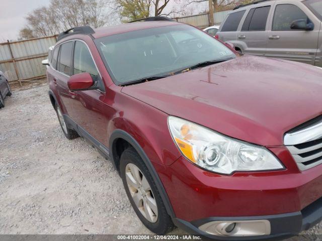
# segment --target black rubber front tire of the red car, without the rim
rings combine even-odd
[[[157,205],[157,212],[158,212],[157,221],[154,223],[148,221],[141,214],[141,212],[136,207],[136,205],[133,201],[133,198],[132,198],[129,188],[127,186],[126,177],[125,177],[125,167],[129,163],[136,165],[140,169],[140,171],[145,176],[145,178],[147,179],[147,181],[151,187],[151,190],[152,190],[152,193],[153,193],[156,205]],[[140,156],[136,153],[136,151],[133,148],[126,149],[121,155],[120,175],[121,175],[123,185],[124,185],[126,194],[128,196],[128,199],[129,199],[136,215],[139,217],[139,219],[144,224],[144,226],[146,226],[152,232],[157,233],[157,234],[165,234],[166,232],[171,230],[173,228],[173,223],[172,223],[170,216],[167,213],[166,207],[165,207],[165,205],[162,201],[162,198],[160,197],[160,194],[156,188],[155,182],[154,182],[150,172],[148,171],[146,165],[144,164],[144,162],[142,161]]]

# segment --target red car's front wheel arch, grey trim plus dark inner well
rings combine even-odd
[[[149,160],[149,158],[147,157],[147,155],[145,154],[145,152],[141,148],[141,146],[138,144],[138,142],[130,134],[128,134],[127,132],[125,132],[123,130],[119,130],[119,129],[115,130],[112,133],[112,135],[110,137],[110,141],[109,141],[109,148],[110,148],[109,156],[110,156],[110,159],[111,159],[112,164],[115,167],[115,169],[118,172],[120,172],[119,162],[120,162],[120,154],[121,153],[120,153],[120,150],[118,150],[118,146],[117,146],[117,144],[119,144],[120,142],[122,142],[122,145],[123,145],[121,148],[126,148],[125,143],[127,143],[126,145],[133,147],[135,149],[135,151],[139,154],[139,156],[143,160],[144,164],[146,165],[147,169],[149,170],[150,174],[152,175],[153,180],[155,181],[155,185],[156,185],[158,192],[160,193],[160,196],[166,206],[168,214],[172,218],[175,218],[175,213],[172,208],[168,194],[167,194],[165,187],[163,186],[157,172],[155,171],[155,168],[153,167],[151,161]]]

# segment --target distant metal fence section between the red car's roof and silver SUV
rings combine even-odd
[[[215,24],[216,25],[221,24],[229,12],[230,12],[230,10],[215,12],[213,14]],[[175,20],[177,22],[190,24],[190,25],[196,26],[201,29],[209,27],[209,14],[208,13],[198,14],[198,15],[194,15],[194,16],[181,17],[181,18],[175,18]]]

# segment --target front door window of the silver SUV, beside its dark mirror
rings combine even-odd
[[[273,18],[273,31],[297,31],[291,29],[291,24],[295,20],[310,20],[306,14],[297,6],[292,4],[280,4],[276,6]]]

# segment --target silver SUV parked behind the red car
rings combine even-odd
[[[257,1],[227,15],[216,38],[237,51],[322,67],[322,1]]]

